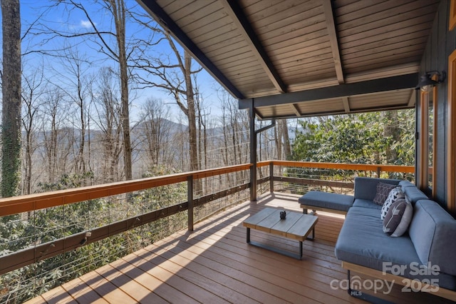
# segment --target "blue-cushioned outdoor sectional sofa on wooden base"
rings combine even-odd
[[[406,231],[398,237],[384,232],[382,206],[373,202],[379,183],[399,186],[413,206],[410,224],[405,223]],[[348,280],[352,270],[404,285],[408,290],[420,289],[456,300],[456,220],[413,183],[358,177],[354,196],[311,191],[299,198],[299,203],[304,213],[308,208],[346,213],[335,251],[348,270]],[[348,292],[372,300],[371,295],[357,290],[349,288]]]

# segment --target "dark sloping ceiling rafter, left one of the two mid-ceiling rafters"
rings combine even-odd
[[[234,0],[219,0],[219,2],[222,3],[225,11],[237,26],[238,31],[242,34],[245,41],[247,41],[247,44],[249,44],[249,48],[254,53],[254,56],[257,57],[259,64],[276,87],[276,90],[279,91],[279,93],[285,93],[286,85],[284,81],[281,80],[279,72],[277,72],[274,64],[272,64],[268,54],[266,54],[261,41],[259,41],[257,34],[254,32],[254,29],[247,19],[247,16],[245,16],[244,11],[242,11],[241,6]]]

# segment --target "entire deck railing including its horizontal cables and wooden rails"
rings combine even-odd
[[[0,303],[20,303],[249,200],[252,164],[0,199]],[[345,163],[257,163],[257,194],[353,189],[353,176],[414,168]],[[410,179],[410,178],[409,178]],[[269,182],[269,183],[268,183]],[[342,190],[343,191],[343,190]],[[6,221],[9,220],[9,221]]]

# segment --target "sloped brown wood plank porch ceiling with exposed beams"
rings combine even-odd
[[[415,106],[438,0],[138,0],[262,119]]]

